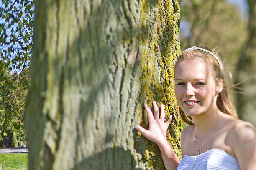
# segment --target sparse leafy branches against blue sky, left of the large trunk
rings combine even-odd
[[[23,72],[31,57],[33,34],[33,1],[0,2],[0,77],[5,70]]]

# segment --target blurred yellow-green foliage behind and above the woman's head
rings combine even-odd
[[[247,38],[247,20],[239,14],[226,0],[181,0],[181,49],[217,48],[225,65],[233,67]]]

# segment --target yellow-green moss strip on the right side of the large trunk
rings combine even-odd
[[[176,7],[174,7],[176,5]],[[174,65],[180,53],[179,47],[179,3],[178,1],[156,1],[154,5],[149,0],[140,2],[141,27],[141,106],[147,103],[152,106],[155,100],[159,105],[165,105],[166,118],[173,114],[172,124],[167,132],[167,140],[181,159],[180,133],[182,121],[178,114],[174,95]],[[175,9],[174,9],[174,8]],[[177,10],[178,9],[178,10]],[[153,22],[154,21],[154,22]],[[137,117],[141,125],[148,127],[145,110],[140,107]],[[156,166],[164,169],[161,154],[156,144],[146,138],[139,137],[143,148],[143,159],[148,163],[148,169]]]

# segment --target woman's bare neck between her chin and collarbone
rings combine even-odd
[[[211,111],[193,116],[192,119],[194,121],[196,135],[208,134],[223,114],[216,105]]]

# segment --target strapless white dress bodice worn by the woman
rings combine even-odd
[[[184,156],[177,170],[240,170],[240,168],[236,158],[215,148],[198,156]]]

